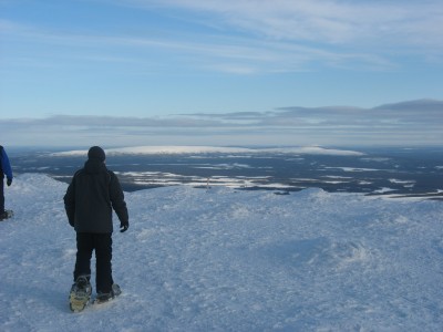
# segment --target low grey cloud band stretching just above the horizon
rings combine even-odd
[[[164,117],[53,115],[0,120],[0,131],[7,146],[440,145],[443,101]]]

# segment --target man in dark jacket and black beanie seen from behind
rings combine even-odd
[[[64,196],[64,207],[69,222],[76,231],[73,289],[86,284],[91,295],[91,257],[95,250],[96,300],[105,302],[119,295],[121,291],[113,281],[111,264],[112,209],[120,219],[121,232],[127,230],[130,222],[119,178],[106,168],[105,153],[100,146],[89,149],[84,167],[73,176]]]

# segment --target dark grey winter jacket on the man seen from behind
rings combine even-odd
[[[122,226],[128,225],[119,178],[97,158],[90,158],[75,173],[64,195],[64,207],[70,225],[78,232],[112,232],[112,209]]]

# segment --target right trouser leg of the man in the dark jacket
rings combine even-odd
[[[110,293],[112,284],[112,234],[96,234],[95,258],[96,258],[96,290],[97,293]]]

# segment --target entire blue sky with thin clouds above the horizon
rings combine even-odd
[[[421,101],[409,141],[437,144],[442,31],[440,0],[0,0],[1,141],[404,143],[373,110]]]

